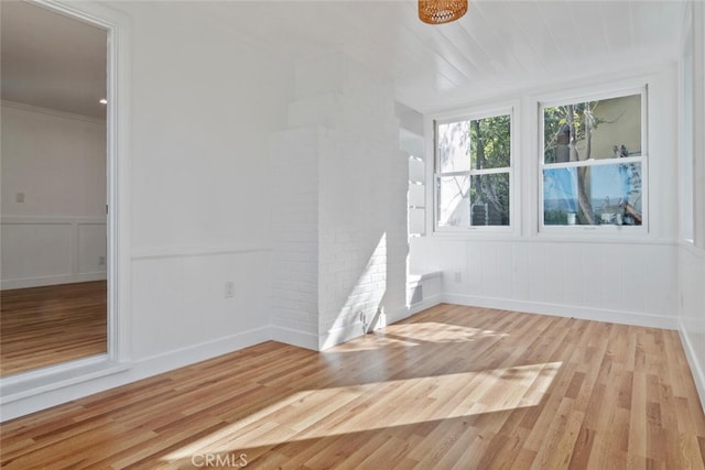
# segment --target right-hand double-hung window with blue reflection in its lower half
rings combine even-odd
[[[540,221],[646,226],[646,89],[541,106]]]

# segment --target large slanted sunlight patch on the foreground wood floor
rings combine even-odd
[[[534,406],[562,362],[294,393],[163,460]]]

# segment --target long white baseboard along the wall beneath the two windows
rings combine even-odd
[[[464,294],[442,294],[444,303],[471,307],[498,308],[501,310],[528,314],[552,315],[556,317],[579,318],[583,320],[606,321],[610,324],[633,325],[639,327],[679,329],[675,317],[639,314],[632,311],[607,310],[601,308],[576,307],[543,302],[510,300],[496,297],[480,297]]]

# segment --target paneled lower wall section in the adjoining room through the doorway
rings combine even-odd
[[[106,220],[2,217],[2,289],[107,277]]]

